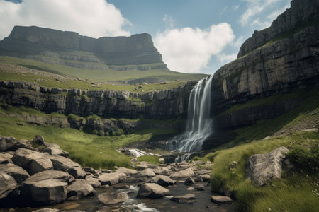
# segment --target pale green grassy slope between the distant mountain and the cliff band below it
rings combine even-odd
[[[15,66],[22,66],[28,69],[35,69],[38,71],[45,71],[47,73],[55,73],[72,78],[82,78],[98,83],[106,81],[132,81],[140,78],[157,79],[159,81],[175,81],[175,80],[199,80],[206,77],[205,74],[190,74],[169,71],[169,69],[150,69],[140,71],[136,69],[136,65],[126,66],[106,66],[103,69],[79,69],[72,66],[65,66],[59,64],[48,64],[42,61],[35,61],[31,59],[21,59],[17,57],[0,57],[0,64],[11,64]],[[145,66],[157,66],[157,64],[146,64]],[[143,65],[138,65],[143,66]],[[114,69],[125,69],[124,71],[116,71]],[[1,76],[1,79],[6,76]],[[11,76],[14,78],[14,76]],[[30,76],[32,78],[32,76]],[[123,88],[125,90],[126,88]]]

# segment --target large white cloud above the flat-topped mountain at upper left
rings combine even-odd
[[[23,0],[21,4],[0,0],[0,39],[14,25],[37,25],[74,31],[91,37],[130,35],[128,20],[105,0]]]

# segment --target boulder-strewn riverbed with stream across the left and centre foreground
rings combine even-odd
[[[229,197],[212,196],[210,162],[153,165],[133,158],[133,169],[94,170],[42,136],[0,141],[1,212],[236,211]]]

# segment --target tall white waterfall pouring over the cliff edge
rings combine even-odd
[[[212,133],[211,81],[212,76],[198,81],[189,95],[188,117],[184,134],[169,141],[170,151],[200,151],[203,141]]]

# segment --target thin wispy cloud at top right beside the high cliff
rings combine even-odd
[[[250,23],[251,26],[257,26],[259,28],[264,28],[272,23],[272,20],[276,18],[280,13],[282,13],[289,4],[284,6],[281,10],[274,11],[271,15],[267,16],[266,20],[260,21],[256,16],[264,12],[267,8],[274,7],[279,1],[290,1],[290,0],[242,0],[247,2],[247,8],[240,16],[240,23],[242,25],[247,25]],[[252,20],[254,19],[254,20]]]

